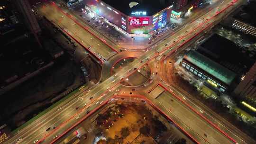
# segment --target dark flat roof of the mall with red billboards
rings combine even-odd
[[[173,0],[102,0],[111,7],[123,12],[126,15],[131,15],[131,12],[146,11],[147,16],[152,16],[162,9],[169,7]],[[130,2],[137,2],[138,4],[129,7]]]

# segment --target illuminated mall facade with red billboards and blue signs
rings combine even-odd
[[[161,2],[161,1],[160,1]],[[110,23],[129,34],[149,34],[170,22],[171,7],[168,6],[153,15],[147,9],[131,11],[129,14],[111,7],[102,0],[83,0],[94,13],[104,17]]]

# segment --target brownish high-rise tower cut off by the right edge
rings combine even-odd
[[[256,99],[256,63],[251,67],[249,72],[242,77],[234,93],[241,98]]]

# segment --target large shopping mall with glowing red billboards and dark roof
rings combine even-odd
[[[149,34],[170,22],[170,0],[83,0],[94,13],[129,34]]]

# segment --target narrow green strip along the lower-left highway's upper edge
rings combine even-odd
[[[57,107],[60,103],[62,103],[64,100],[70,98],[71,96],[73,96],[73,94],[75,94],[76,92],[79,91],[79,88],[76,90],[73,90],[71,93],[69,93],[68,95],[66,95],[63,99],[60,99],[59,101],[57,101],[55,104],[53,104],[52,106],[50,106],[49,108],[46,108],[44,111],[40,112],[37,116],[31,118],[29,121],[27,121],[26,123],[24,123],[23,125],[19,126],[18,128],[16,128],[15,130],[13,130],[11,133],[14,135],[15,133],[17,133],[19,130],[21,130],[22,128],[28,126],[29,124],[31,124],[32,122],[34,122],[35,120],[37,120],[37,118],[43,116],[44,114],[46,114],[48,111],[50,111],[51,109]]]

